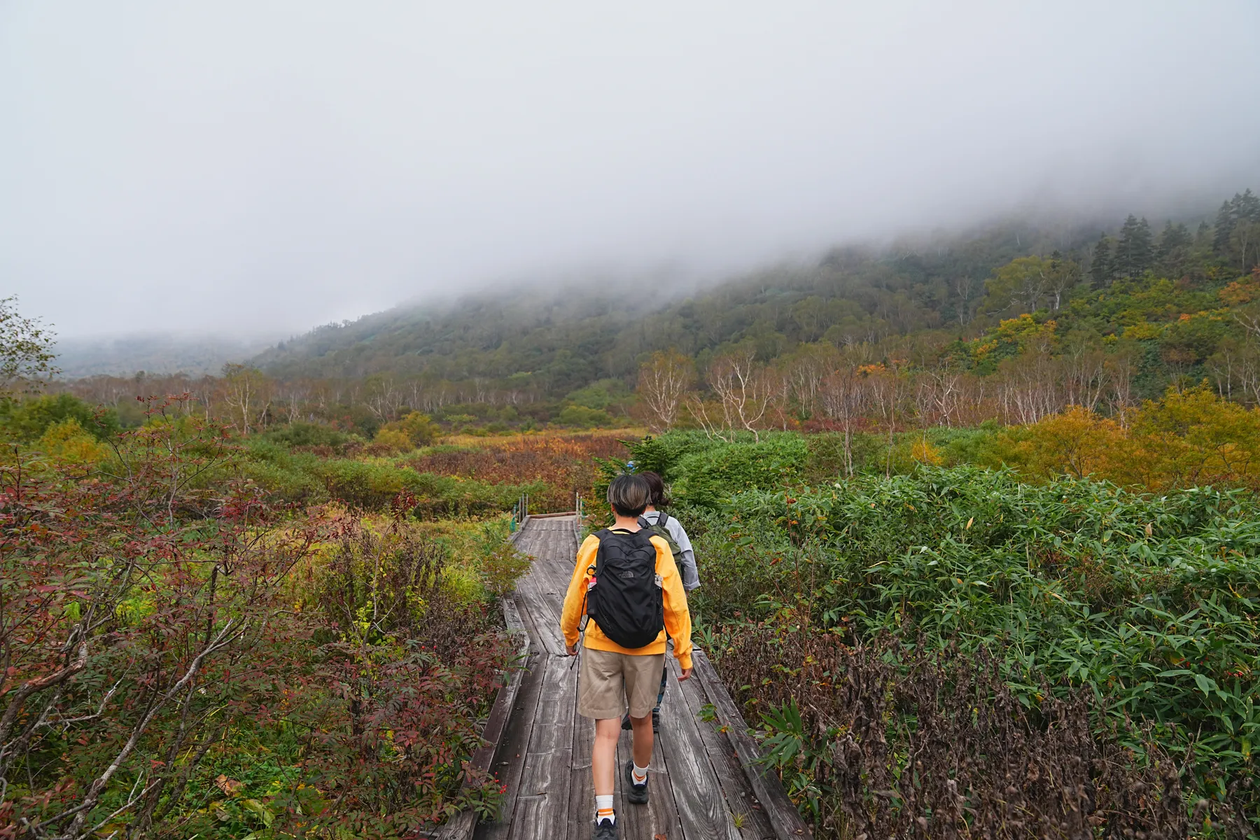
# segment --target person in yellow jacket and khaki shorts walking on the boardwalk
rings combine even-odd
[[[651,487],[643,476],[620,475],[609,485],[609,504],[615,523],[610,535],[635,534],[639,516],[651,499]],[[641,536],[639,538],[641,540]],[[578,673],[577,713],[595,718],[595,748],[591,751],[591,775],[595,777],[593,840],[617,837],[616,814],[612,809],[616,776],[617,738],[621,714],[629,705],[634,729],[634,758],[626,763],[626,800],[648,802],[648,764],[651,762],[651,708],[656,703],[660,673],[665,661],[665,632],[674,640],[674,656],[682,669],[679,679],[692,675],[692,617],[687,611],[687,591],[669,544],[650,538],[656,549],[655,574],[663,602],[664,627],[655,640],[641,647],[622,647],[600,628],[598,618],[586,623],[582,667]],[[564,596],[561,632],[570,656],[577,655],[582,617],[586,615],[588,592],[596,587],[598,534],[586,538],[577,549],[577,564]],[[593,612],[593,611],[592,611]],[[650,631],[649,631],[650,632]]]

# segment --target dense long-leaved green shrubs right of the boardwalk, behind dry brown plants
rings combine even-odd
[[[709,485],[674,490],[692,501],[693,486],[694,501],[711,505]],[[750,489],[724,514],[693,535],[703,581],[694,601],[711,625],[790,607],[859,639],[999,645],[1026,705],[1046,683],[1085,686],[1116,720],[1154,727],[1173,753],[1193,742],[1197,787],[1254,772],[1260,508],[1244,491],[1155,497],[920,466]]]

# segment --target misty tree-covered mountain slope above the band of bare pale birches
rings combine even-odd
[[[1055,321],[1061,343],[1159,339],[1154,355],[1167,370],[1148,377],[1158,393],[1173,375],[1201,373],[1222,341],[1242,335],[1227,317],[1164,329],[1228,307],[1220,288],[1260,262],[1260,199],[1250,190],[1211,222],[1157,229],[1130,215],[1100,238],[1097,227],[1011,223],[883,249],[838,248],[665,305],[609,288],[517,288],[319,327],[253,364],[280,379],[387,374],[447,388],[452,402],[533,402],[601,379],[631,384],[640,363],[667,349],[704,370],[735,346],[761,363],[820,341],[866,345],[882,359],[907,355],[908,338],[920,364],[936,364],[958,356],[958,341],[1029,315]],[[1159,326],[1133,330],[1139,322]]]

